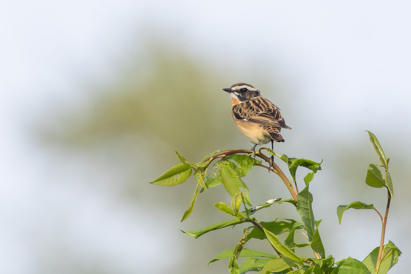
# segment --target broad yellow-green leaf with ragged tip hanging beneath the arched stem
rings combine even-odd
[[[220,175],[224,188],[232,197],[236,196],[237,193],[242,192],[240,189],[242,188],[245,190],[243,192],[247,193],[244,195],[245,203],[251,205],[248,198],[248,187],[242,182],[240,174],[235,169],[231,168],[228,163],[223,162],[220,168]]]

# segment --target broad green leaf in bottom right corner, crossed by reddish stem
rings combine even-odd
[[[363,264],[368,268],[371,274],[375,274],[375,267],[377,264],[378,251],[380,247],[377,246],[373,251],[371,251],[367,257],[363,260]],[[381,260],[380,268],[378,274],[386,274],[391,267],[393,267],[398,262],[398,257],[401,256],[402,252],[395,246],[391,241],[384,246],[382,255],[385,257]]]

